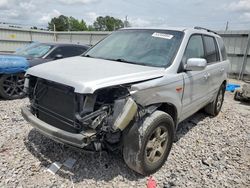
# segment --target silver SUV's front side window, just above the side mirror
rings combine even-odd
[[[201,35],[190,37],[182,62],[186,63],[189,58],[204,58],[204,48]]]

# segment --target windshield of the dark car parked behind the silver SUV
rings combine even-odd
[[[31,44],[30,46],[15,52],[15,54],[22,56],[42,57],[48,53],[51,48],[52,46],[48,44]]]

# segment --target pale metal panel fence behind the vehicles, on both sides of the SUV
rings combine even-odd
[[[229,75],[250,79],[250,31],[218,31],[231,61]],[[93,45],[109,32],[52,32],[0,27],[0,51],[12,52],[32,41]]]

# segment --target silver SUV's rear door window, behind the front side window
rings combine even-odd
[[[214,37],[204,36],[207,63],[220,61],[219,51]]]

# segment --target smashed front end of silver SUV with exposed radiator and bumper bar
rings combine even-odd
[[[31,104],[29,112],[22,110],[25,119],[52,139],[87,150],[119,149],[122,131],[140,111],[129,85],[78,94],[45,79],[29,76],[28,81]]]

